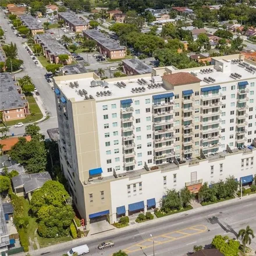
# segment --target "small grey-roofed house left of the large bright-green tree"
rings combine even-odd
[[[48,172],[22,173],[12,178],[13,191],[19,197],[27,197],[31,200],[35,190],[38,190],[45,182],[51,180]]]

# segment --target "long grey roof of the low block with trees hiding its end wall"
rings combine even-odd
[[[54,54],[55,56],[61,55],[61,54],[67,54],[70,55],[70,52],[67,51],[65,47],[63,47],[62,44],[60,44],[54,37],[52,37],[50,34],[37,34],[35,35],[35,38],[38,38],[42,42],[42,44],[45,45],[49,51]]]

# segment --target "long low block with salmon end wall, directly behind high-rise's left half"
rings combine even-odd
[[[90,29],[83,31],[84,36],[96,41],[99,52],[110,59],[123,59],[126,56],[126,47],[113,39],[106,37],[98,30]]]

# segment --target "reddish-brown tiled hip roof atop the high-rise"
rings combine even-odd
[[[173,86],[180,86],[182,84],[193,84],[199,83],[201,80],[193,76],[193,74],[187,72],[179,72],[174,74],[165,74],[163,80],[168,81],[168,83]]]

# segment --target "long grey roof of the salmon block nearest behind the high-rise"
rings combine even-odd
[[[106,37],[104,34],[95,29],[84,30],[83,33],[93,38],[98,44],[103,45],[109,51],[125,50],[125,46],[119,45],[118,42]]]

